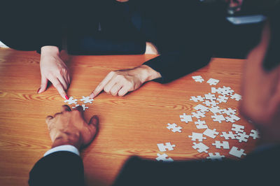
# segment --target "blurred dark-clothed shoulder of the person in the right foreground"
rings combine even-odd
[[[132,157],[114,185],[275,185],[280,147],[253,152],[244,159],[162,163]]]

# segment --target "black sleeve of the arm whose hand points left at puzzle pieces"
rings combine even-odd
[[[159,41],[155,44],[161,55],[144,63],[161,74],[162,78],[156,80],[160,83],[169,83],[209,64],[219,15],[211,12],[215,8],[200,3],[188,3],[187,7],[179,3],[170,9],[158,23]]]

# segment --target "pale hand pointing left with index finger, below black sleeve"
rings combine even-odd
[[[111,71],[90,94],[90,97],[94,98],[102,90],[113,96],[124,96],[127,92],[137,90],[146,81],[156,78],[161,78],[160,73],[146,65],[134,69]]]

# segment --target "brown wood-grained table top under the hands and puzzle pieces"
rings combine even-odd
[[[67,94],[76,99],[88,96],[109,71],[129,69],[153,57],[63,55],[72,79]],[[45,117],[59,112],[64,100],[52,86],[43,94],[36,94],[41,83],[39,59],[36,52],[0,49],[0,185],[28,185],[29,171],[51,146]],[[204,130],[197,129],[194,122],[181,122],[179,115],[195,111],[193,107],[198,103],[190,101],[190,96],[211,92],[211,86],[206,83],[209,78],[220,80],[214,87],[230,86],[240,94],[243,63],[241,59],[212,59],[208,66],[172,83],[146,83],[124,97],[102,92],[94,103],[87,103],[86,120],[92,115],[99,115],[100,119],[97,138],[81,152],[87,185],[110,185],[132,155],[155,159],[160,152],[157,143],[175,144],[173,151],[166,152],[175,161],[205,159],[208,154],[193,149],[193,141],[188,138],[193,131]],[[206,81],[196,83],[192,76],[197,75]],[[238,104],[239,101],[229,99],[219,106],[238,109]],[[210,113],[203,120],[210,129],[220,133],[232,127],[231,122],[214,122]],[[169,131],[167,123],[178,124],[183,127],[182,132]],[[253,129],[242,117],[235,124],[244,125],[247,134]],[[234,158],[229,155],[230,150],[218,150],[211,145],[215,140],[223,141],[223,138],[203,141],[210,147],[209,152]],[[247,143],[229,140],[229,143],[230,147],[235,145],[248,153],[255,148],[257,140],[249,138]]]

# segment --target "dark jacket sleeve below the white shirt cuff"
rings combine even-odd
[[[30,186],[84,185],[83,161],[72,152],[54,152],[34,165],[28,183]]]

